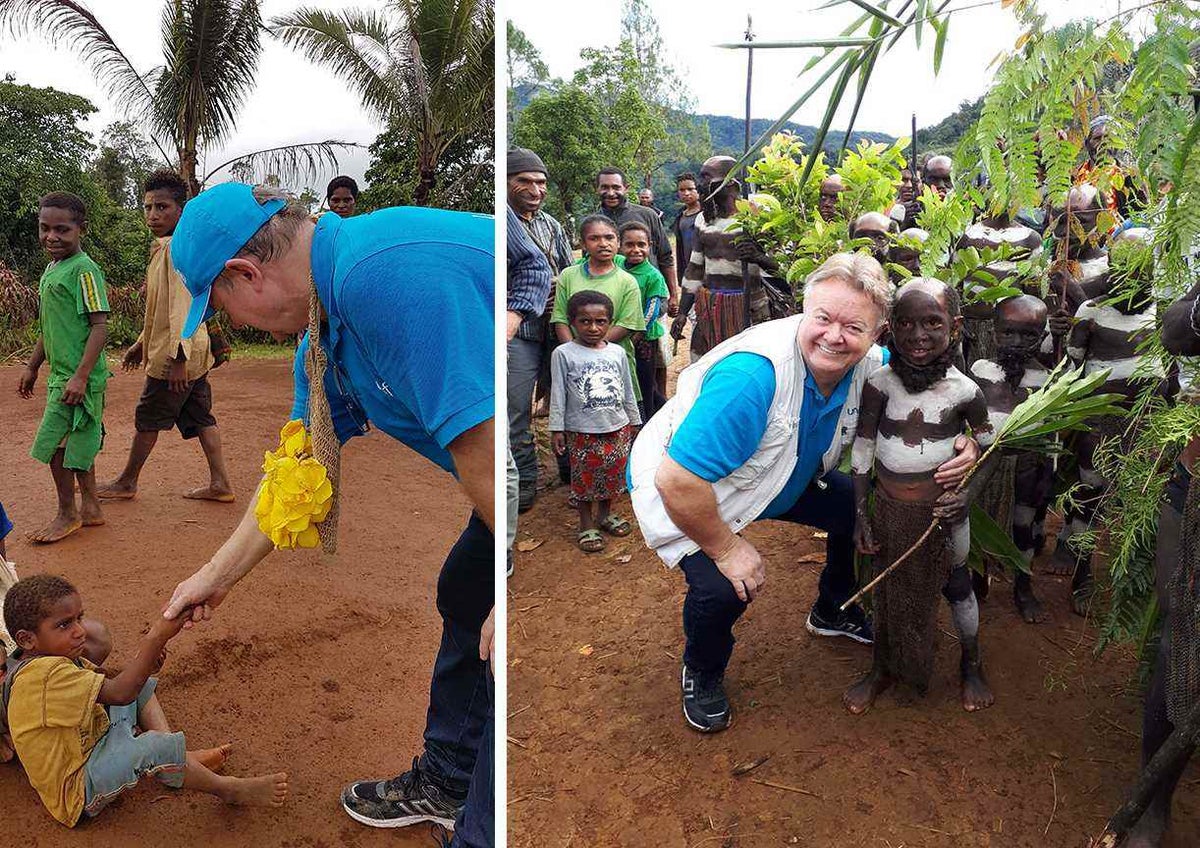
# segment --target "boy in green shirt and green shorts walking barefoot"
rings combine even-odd
[[[18,392],[34,397],[43,362],[46,413],[29,455],[50,467],[59,513],[46,528],[30,534],[34,542],[56,542],[80,527],[104,523],[96,499],[96,455],[104,441],[101,419],[108,365],[108,293],[104,275],[79,246],[88,231],[88,211],[74,194],[52,192],[37,212],[37,234],[50,264],[38,288],[41,337],[20,374]],[[79,485],[80,505],[74,489]]]

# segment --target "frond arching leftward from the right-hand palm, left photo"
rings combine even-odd
[[[382,12],[298,8],[272,18],[269,29],[349,84],[368,113],[384,121],[396,114],[396,68],[403,56],[398,32]]]

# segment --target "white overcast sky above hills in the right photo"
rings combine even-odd
[[[852,4],[820,11],[824,0],[647,0],[654,10],[670,59],[679,67],[696,98],[696,110],[718,115],[745,114],[744,50],[724,50],[713,44],[742,41],[746,13],[754,22],[758,40],[796,41],[840,35],[863,13]],[[978,0],[954,0],[950,8],[973,6]],[[892,4],[898,6],[898,2]],[[1091,16],[1108,18],[1118,6],[1130,8],[1136,0],[1045,0],[1043,10],[1050,24]],[[562,0],[511,0],[504,12],[529,37],[550,66],[551,76],[569,78],[581,65],[584,47],[613,44],[620,36],[620,1],[592,0],[581,17],[581,7]],[[1145,16],[1136,18],[1145,25]],[[858,116],[860,130],[875,130],[893,136],[908,136],[911,115],[917,113],[919,126],[936,124],[954,112],[964,100],[983,94],[991,79],[988,64],[1003,49],[1012,48],[1019,35],[1013,14],[1000,8],[998,0],[970,8],[950,18],[942,68],[934,76],[934,38],[926,26],[922,48],[913,36],[905,36],[880,59]],[[814,55],[814,50],[755,50],[755,118],[779,118],[815,80],[803,83],[796,74]],[[820,73],[820,72],[817,72]],[[832,88],[830,79],[828,86]],[[824,114],[828,89],[814,96],[792,120],[820,124]],[[852,103],[853,97],[847,97]],[[838,115],[835,127],[845,126],[850,106]]]

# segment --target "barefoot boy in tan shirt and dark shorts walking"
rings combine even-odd
[[[214,356],[205,325],[191,338],[182,338],[184,320],[192,302],[184,281],[170,266],[170,235],[187,202],[187,185],[179,174],[158,170],[145,182],[143,211],[155,235],[146,267],[145,325],[138,341],[125,353],[121,367],[146,369],[145,387],[133,413],[137,433],[125,470],[100,487],[101,498],[126,500],[137,494],[138,475],[150,458],[158,432],[178,427],[185,439],[199,438],[209,464],[209,485],[192,489],[185,498],[233,503],[233,489],[221,451],[221,431],[212,417],[212,389],[209,371]]]

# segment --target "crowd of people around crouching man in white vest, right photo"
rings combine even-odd
[[[628,479],[647,545],[668,567],[678,566],[686,581],[680,694],[690,727],[719,732],[732,720],[724,676],[733,625],[762,591],[767,575],[762,557],[740,535],[754,521],[787,521],[827,533],[827,563],[805,624],[815,636],[872,645],[870,670],[842,698],[852,714],[870,709],[896,682],[928,690],[938,595],[949,606],[961,650],[964,709],[994,703],[979,638],[979,602],[991,579],[986,566],[983,573],[967,567],[972,504],[1010,534],[1028,565],[1046,546],[1045,519],[1056,488],[1073,487],[1049,571],[1070,578],[1070,608],[1086,615],[1094,581],[1092,551],[1081,542],[1094,530],[1097,506],[1110,486],[1098,470],[1097,451],[1104,443],[1130,438],[1122,413],[1147,386],[1181,402],[1189,398],[1186,374],[1169,375],[1156,360],[1140,355],[1157,320],[1153,235],[1136,211],[1146,204],[1130,188],[1139,181],[1105,152],[1106,127],[1104,118],[1093,121],[1087,160],[1064,196],[1046,197],[1043,208],[1015,215],[980,211],[960,234],[955,249],[1003,248],[1004,259],[986,270],[1000,284],[1008,279],[1022,285],[1022,293],[1000,302],[974,297],[971,283],[964,290],[920,276],[919,251],[929,234],[917,225],[919,197],[925,186],[942,199],[955,191],[947,156],[904,169],[889,208],[847,222],[850,237],[868,247],[830,257],[806,278],[803,291],[791,291],[779,258],[743,235],[736,218],[742,186],[731,179],[730,157],[706,161],[698,179],[679,175],[673,257],[661,233],[650,233],[648,253],[640,239],[626,245],[630,224],[618,222],[636,206],[625,199],[623,181],[612,186],[608,172],[598,178],[598,213],[580,227],[583,258],[542,251],[558,275],[548,319],[553,337],[544,345],[552,350],[550,429],[557,452],[571,446],[571,497],[581,501],[584,551],[602,546],[599,534],[590,533],[598,524],[587,513],[587,501],[599,500],[601,517],[612,522],[611,499],[626,477],[624,463],[616,463],[616,487],[599,495],[589,488],[586,469],[604,453],[592,445],[612,439],[613,452],[624,450],[628,437],[617,435],[617,427],[638,421],[628,398],[630,389],[638,389],[636,377],[628,377],[635,371],[637,333],[643,320],[648,326],[664,313],[650,288],[635,288],[638,281],[625,279],[614,267],[614,255],[625,254],[626,271],[648,261],[647,255],[658,259],[660,269],[666,264],[674,271],[668,283],[680,281],[678,305],[674,285],[667,295],[665,312],[673,317],[667,335],[677,341],[690,335],[691,365],[665,403],[641,383],[643,426],[631,446]],[[524,229],[536,235],[548,217],[539,208],[546,172],[538,167],[540,160],[529,158],[530,151],[516,152],[517,162],[512,154],[509,160],[509,203]],[[1122,168],[1130,179],[1116,181],[1124,186],[1121,191],[1102,192],[1088,181],[1097,172]],[[529,190],[539,182],[539,172],[540,196]],[[620,190],[619,199],[606,194],[610,187]],[[842,215],[839,198],[845,190],[836,174],[821,184],[817,213],[824,221]],[[1045,272],[1049,278],[1019,281],[1018,261],[1043,251],[1055,258]],[[614,289],[620,291],[620,308],[613,306]],[[1200,354],[1198,291],[1200,284],[1188,294],[1192,301],[1171,307],[1184,341],[1170,338],[1168,314],[1163,338],[1169,348],[1175,344],[1174,353]],[[623,369],[613,360],[610,401],[601,407],[584,363],[599,359],[606,342],[625,345],[630,367]],[[510,373],[512,362],[510,342]],[[1056,368],[1076,366],[1084,374],[1103,372],[1096,391],[1114,396],[1114,403],[1112,414],[1064,439],[1063,451],[1073,453],[1074,462],[1060,468],[1045,453],[1000,450],[979,463],[1013,411],[1045,386]],[[517,390],[528,403],[530,385]],[[527,428],[529,419],[514,421],[511,403],[510,395],[516,452],[527,438],[520,428]],[[601,408],[608,416],[604,426],[589,427],[601,421],[590,410]],[[604,428],[610,434],[586,435]],[[1176,567],[1180,515],[1198,445],[1180,457],[1163,506],[1160,589],[1171,575],[1184,571]],[[1068,474],[1073,476],[1063,479]],[[530,485],[521,469],[522,507],[533,501]],[[1183,545],[1189,545],[1187,539]],[[856,554],[868,564],[863,573],[856,572]],[[860,578],[905,559],[906,565],[874,587],[868,614],[858,603]],[[1013,576],[1012,597],[1025,621],[1046,618],[1028,571]],[[1171,601],[1163,595],[1160,603],[1169,611],[1170,630]],[[1146,760],[1186,715],[1164,680],[1168,669],[1187,657],[1178,651],[1170,656],[1169,638],[1163,644],[1145,710]],[[1194,644],[1187,644],[1194,654]],[[1198,664],[1193,657],[1188,668]],[[1186,676],[1192,687],[1177,700],[1194,704],[1200,672],[1175,676]],[[1177,780],[1175,772],[1162,784],[1128,844],[1160,844]]]

